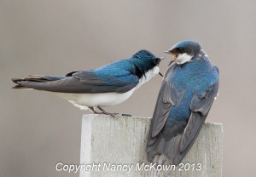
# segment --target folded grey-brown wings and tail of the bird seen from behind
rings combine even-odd
[[[148,135],[149,162],[152,162],[155,155],[159,154],[166,155],[175,165],[183,160],[183,157],[194,144],[211,109],[213,100],[218,94],[218,82],[212,83],[203,95],[194,95],[191,100],[191,114],[188,123],[186,121],[173,121],[166,128],[166,118],[169,111],[172,106],[178,105],[182,99],[182,95],[176,93],[177,91],[172,88],[171,84],[166,83],[166,81],[162,83]]]

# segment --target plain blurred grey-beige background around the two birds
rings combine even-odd
[[[0,176],[78,176],[55,163],[79,163],[84,111],[10,79],[64,75],[130,57],[166,56],[173,44],[200,41],[220,70],[219,97],[207,122],[224,123],[224,176],[255,170],[256,2],[173,0],[0,1]],[[151,117],[161,78],[108,111]]]

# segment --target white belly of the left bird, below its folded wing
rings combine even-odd
[[[124,94],[118,93],[101,93],[101,94],[66,94],[66,93],[54,93],[63,99],[73,103],[74,106],[78,106],[81,109],[87,109],[87,107],[108,107],[119,105],[127,100],[134,92],[135,88]]]

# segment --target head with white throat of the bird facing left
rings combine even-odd
[[[175,44],[171,49],[165,51],[172,54],[177,64],[182,65],[201,52],[201,44],[196,41],[182,41]],[[172,61],[172,62],[173,62]]]

